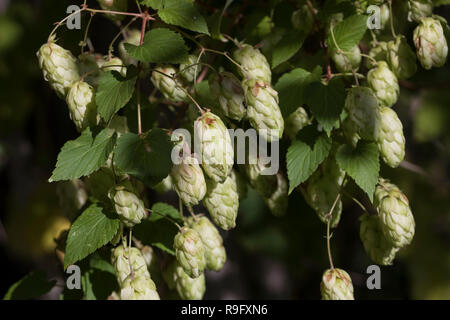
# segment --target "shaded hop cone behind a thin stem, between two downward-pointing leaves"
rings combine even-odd
[[[330,158],[308,180],[303,195],[323,223],[328,222],[328,213],[339,194],[344,175],[345,173],[338,167],[336,161]],[[332,228],[338,225],[341,213],[342,201],[339,199],[331,216],[330,225]]]

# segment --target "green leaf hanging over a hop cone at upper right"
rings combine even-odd
[[[333,33],[336,43],[341,50],[350,51],[361,41],[367,30],[367,19],[367,16],[355,14],[336,25]],[[337,49],[331,32],[328,36],[328,46],[332,49]]]

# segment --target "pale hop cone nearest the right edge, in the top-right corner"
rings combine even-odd
[[[424,18],[414,30],[414,44],[422,67],[442,67],[447,61],[447,40],[439,20]]]

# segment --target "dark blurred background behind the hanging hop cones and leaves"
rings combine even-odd
[[[64,284],[54,239],[70,223],[59,206],[56,185],[47,180],[60,148],[78,133],[65,102],[43,80],[36,51],[67,6],[78,2],[0,0],[0,296],[33,270],[57,280],[43,299],[58,299]],[[205,12],[208,2],[199,2]],[[246,10],[242,28],[264,20],[264,8],[257,4]],[[448,6],[435,13],[449,21]],[[98,16],[91,28],[96,50],[105,53],[117,26]],[[404,32],[410,37],[410,29]],[[82,30],[61,28],[58,35],[59,44],[79,52]],[[410,200],[417,225],[414,241],[393,266],[381,268],[382,289],[368,290],[366,268],[372,262],[359,239],[362,212],[346,199],[333,232],[334,262],[351,275],[358,299],[450,299],[449,64],[428,72],[419,68],[414,78],[402,82],[395,110],[404,125],[406,162],[396,170],[382,166],[381,174]],[[148,196],[161,200],[152,191]],[[175,199],[174,194],[164,198]],[[320,298],[319,283],[328,266],[326,226],[299,192],[289,201],[288,214],[275,218],[250,190],[240,204],[237,227],[223,233],[228,262],[221,272],[207,273],[206,299]]]

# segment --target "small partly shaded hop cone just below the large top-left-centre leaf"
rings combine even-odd
[[[163,96],[174,102],[178,101],[188,101],[188,96],[186,92],[182,89],[183,84],[171,77],[176,75],[177,71],[170,66],[160,66],[156,67],[155,71],[152,72],[152,83],[153,85],[161,91]]]

